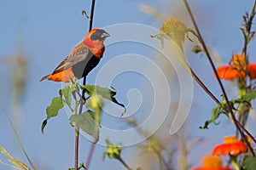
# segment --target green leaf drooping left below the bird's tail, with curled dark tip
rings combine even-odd
[[[42,123],[42,127],[41,127],[41,131],[42,133],[44,133],[44,127],[47,124],[47,121],[54,116],[58,115],[58,112],[61,110],[61,108],[63,108],[64,106],[64,101],[61,99],[61,97],[55,97],[51,100],[50,105],[47,107],[46,109],[46,119],[44,120],[44,122]]]

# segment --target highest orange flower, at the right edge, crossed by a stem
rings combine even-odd
[[[224,80],[234,80],[246,77],[246,58],[242,54],[233,54],[230,65],[222,65],[217,69],[218,77]],[[247,74],[251,79],[256,79],[256,64],[247,65]]]

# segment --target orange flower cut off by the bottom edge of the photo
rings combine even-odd
[[[192,170],[232,170],[228,166],[222,166],[220,156],[204,156],[201,167],[195,167]]]

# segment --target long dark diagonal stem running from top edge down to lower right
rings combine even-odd
[[[187,2],[187,0],[183,0],[183,3],[185,4],[185,7],[187,8],[188,13],[189,13],[189,17],[190,17],[190,19],[192,20],[193,25],[195,26],[195,31],[196,31],[196,33],[197,33],[197,35],[198,35],[199,41],[201,42],[202,48],[204,49],[205,54],[207,55],[207,59],[209,60],[210,65],[212,66],[212,70],[213,70],[213,72],[214,72],[214,75],[217,77],[218,84],[219,84],[219,86],[220,86],[220,88],[221,88],[221,91],[222,91],[222,93],[223,93],[223,95],[224,95],[224,99],[226,100],[226,103],[227,103],[227,105],[228,105],[228,109],[229,109],[229,112],[230,112],[231,119],[232,119],[233,122],[235,122],[235,126],[236,126],[236,128],[239,130],[239,133],[241,133],[241,138],[247,143],[247,146],[249,147],[249,149],[250,149],[250,151],[252,152],[253,156],[255,156],[255,154],[254,154],[254,152],[253,152],[252,146],[251,146],[250,144],[248,144],[248,141],[247,141],[247,139],[246,139],[246,137],[245,137],[245,134],[242,133],[241,128],[240,128],[240,126],[238,125],[238,123],[237,123],[237,121],[236,121],[236,117],[235,117],[235,115],[234,115],[234,113],[233,113],[233,110],[232,110],[232,107],[231,107],[231,105],[230,105],[228,96],[227,96],[227,94],[226,94],[226,92],[225,92],[225,90],[224,90],[224,86],[223,86],[223,84],[222,84],[220,78],[218,77],[218,72],[217,72],[217,70],[216,70],[216,68],[215,68],[215,65],[213,64],[213,61],[212,61],[211,55],[210,55],[210,53],[209,53],[209,51],[208,51],[208,49],[207,49],[206,43],[204,42],[204,40],[203,40],[203,38],[202,38],[202,36],[201,36],[201,32],[200,32],[200,30],[199,30],[199,28],[198,28],[198,26],[197,26],[197,24],[196,24],[196,22],[195,22],[195,17],[194,17],[194,15],[192,14],[191,9],[189,8],[189,3]]]

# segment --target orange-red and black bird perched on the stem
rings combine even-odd
[[[106,37],[109,37],[107,31],[98,28],[91,30],[84,40],[73,48],[67,58],[40,82],[46,79],[54,82],[69,82],[70,78],[76,81],[86,77],[102,59]]]

